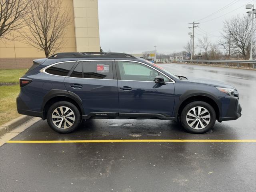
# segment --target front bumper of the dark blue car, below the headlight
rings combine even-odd
[[[219,118],[218,121],[236,120],[242,116],[241,111],[242,107],[239,104],[239,99],[237,97],[230,97],[230,105],[226,116]]]

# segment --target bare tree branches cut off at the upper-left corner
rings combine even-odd
[[[0,0],[0,39],[12,39],[6,35],[23,26],[28,4],[28,0]]]

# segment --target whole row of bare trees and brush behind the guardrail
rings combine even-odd
[[[194,59],[243,59],[248,60],[250,57],[251,44],[251,19],[247,16],[233,16],[224,21],[224,27],[221,37],[217,42],[211,42],[209,37],[203,36],[198,40],[200,52],[194,54]],[[255,33],[255,29],[253,34]],[[192,54],[192,43],[188,41],[184,46],[187,59]],[[253,36],[252,57],[256,57],[255,53],[255,36]]]

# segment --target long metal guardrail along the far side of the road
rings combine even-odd
[[[252,68],[255,68],[255,64],[256,64],[256,60],[191,60],[191,59],[182,59],[182,60],[178,60],[179,62],[190,62],[190,63],[206,63],[206,64],[210,64],[210,63],[224,63],[226,66],[228,66],[228,64],[230,63],[236,63],[237,67],[240,67],[240,64],[245,63],[245,64],[252,64]]]

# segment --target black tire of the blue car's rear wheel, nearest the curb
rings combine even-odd
[[[57,114],[55,111],[56,109],[58,109]],[[60,109],[62,109],[63,113],[66,110],[68,110],[65,114],[62,115],[62,116],[64,116],[64,118],[60,117],[60,118],[53,119],[52,115],[54,115],[53,117],[61,116]],[[71,115],[68,116],[69,114],[71,114]],[[82,119],[78,108],[74,104],[67,102],[67,101],[59,101],[59,102],[52,104],[52,106],[50,106],[50,108],[48,109],[46,118],[47,118],[48,125],[52,128],[52,130],[59,132],[59,133],[70,133],[70,132],[74,131],[76,128],[78,128],[78,126],[81,123],[81,119]],[[63,118],[63,120],[62,120],[62,118]],[[72,119],[74,119],[74,121]],[[53,120],[56,120],[56,122],[54,123]],[[62,120],[61,125],[60,125],[60,123],[58,123],[59,120],[60,121]],[[70,125],[70,124],[72,124],[72,125]],[[58,127],[57,125],[60,127]]]

